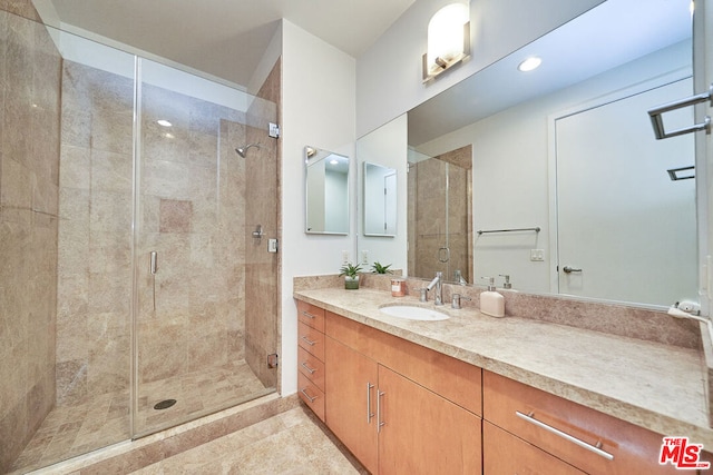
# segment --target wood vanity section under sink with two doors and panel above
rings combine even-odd
[[[330,311],[325,335],[326,425],[367,469],[481,473],[480,368]]]

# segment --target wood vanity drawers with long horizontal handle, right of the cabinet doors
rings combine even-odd
[[[486,475],[681,473],[658,464],[660,434],[487,370],[482,393]]]

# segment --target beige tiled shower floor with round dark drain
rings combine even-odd
[[[150,383],[139,388],[137,432],[175,425],[268,392],[272,389],[266,389],[244,363]],[[154,405],[166,398],[178,402],[169,409],[155,410]],[[59,406],[45,418],[11,473],[23,474],[127,441],[129,436],[128,393],[105,394],[84,404]]]

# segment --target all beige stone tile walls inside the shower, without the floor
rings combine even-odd
[[[128,398],[130,375],[133,80],[62,68],[45,27],[22,17],[39,21],[29,2],[0,0],[0,472],[55,403]],[[263,106],[246,118],[148,85],[144,93],[140,379],[229,366],[247,345],[275,386],[265,356],[277,342],[277,257],[251,236],[256,224],[277,236],[279,144],[266,139]],[[280,97],[279,66],[261,93]],[[172,138],[158,115],[174,118]],[[248,141],[268,159],[241,159],[234,149]],[[154,249],[155,294],[140,265]]]

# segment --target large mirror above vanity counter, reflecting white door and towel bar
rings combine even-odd
[[[647,115],[693,93],[691,77],[688,0],[607,0],[409,111],[408,274],[697,299],[695,179],[672,171],[694,175],[694,138],[656,140]]]

